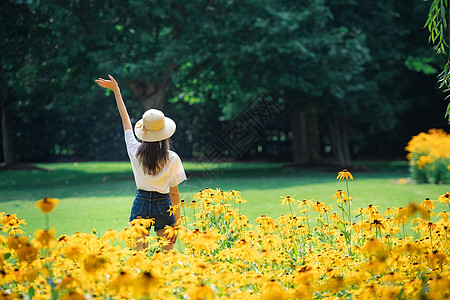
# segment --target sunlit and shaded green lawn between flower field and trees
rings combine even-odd
[[[135,184],[128,162],[88,162],[40,164],[45,170],[0,172],[0,212],[17,213],[27,221],[25,230],[31,234],[44,226],[44,217],[35,207],[35,201],[55,197],[61,203],[50,215],[50,225],[58,234],[77,231],[99,233],[109,228],[120,230],[127,226]],[[353,207],[402,206],[409,202],[421,202],[426,197],[437,199],[450,191],[450,185],[399,183],[407,178],[405,162],[359,162],[358,169],[367,166],[371,172],[350,169],[354,181],[350,182]],[[296,199],[315,199],[333,203],[332,195],[345,188],[337,181],[338,167],[292,168],[282,164],[233,163],[200,164],[184,162],[188,180],[180,185],[181,198],[190,202],[193,195],[205,187],[237,190],[247,203],[242,213],[252,222],[266,214],[274,218],[287,213],[280,206],[280,196]],[[334,205],[335,208],[336,205]],[[438,205],[437,210],[447,209]],[[187,214],[192,218],[192,212]]]

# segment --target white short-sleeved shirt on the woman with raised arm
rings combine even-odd
[[[136,140],[133,131],[130,129],[125,131],[125,143],[138,189],[167,194],[170,187],[177,186],[186,180],[181,159],[175,152],[169,150],[169,160],[161,172],[156,175],[149,175],[144,172],[139,159],[136,157],[141,143]]]

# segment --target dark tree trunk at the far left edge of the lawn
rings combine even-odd
[[[7,87],[3,93],[2,103],[2,144],[3,144],[3,158],[5,165],[12,165],[17,163],[17,154],[15,150],[14,128],[12,125],[12,115],[8,112],[8,104],[11,102],[11,95]]]

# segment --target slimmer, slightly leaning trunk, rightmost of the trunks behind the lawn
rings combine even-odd
[[[350,166],[351,159],[347,139],[347,120],[345,118],[334,116],[329,118],[328,125],[330,128],[333,152],[336,155],[339,166]]]

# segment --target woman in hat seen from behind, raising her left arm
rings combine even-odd
[[[114,92],[122,119],[125,143],[137,187],[130,222],[138,217],[153,218],[156,234],[166,237],[164,227],[173,226],[180,218],[178,184],[186,180],[180,157],[169,150],[169,138],[175,132],[175,122],[159,110],[147,110],[134,127],[134,134],[142,141],[138,142],[134,137],[119,85],[111,75],[108,77],[110,80],[99,78],[95,82]],[[178,206],[174,215],[168,212],[170,205]],[[169,241],[170,244],[164,246],[163,250],[173,249],[176,236]]]

